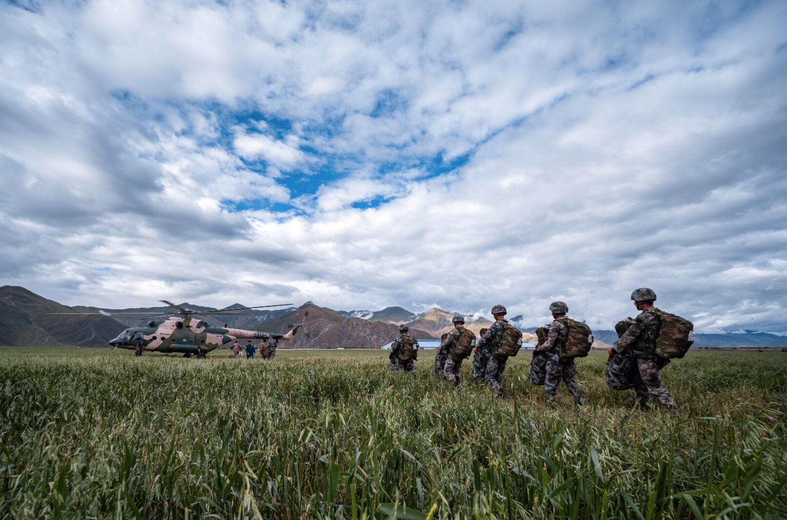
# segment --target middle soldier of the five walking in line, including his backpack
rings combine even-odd
[[[481,365],[484,364],[483,378],[489,383],[490,388],[497,390],[497,396],[500,398],[511,396],[503,389],[503,372],[508,356],[515,356],[522,346],[522,331],[508,323],[505,319],[506,313],[502,305],[495,305],[492,308],[495,323],[481,335],[473,358],[473,378],[476,378],[476,369],[480,371]],[[519,336],[518,340],[517,336]]]

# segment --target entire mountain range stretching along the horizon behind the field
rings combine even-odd
[[[255,302],[256,303],[256,302]],[[217,311],[246,307],[232,304],[222,309],[183,302],[183,308],[198,311]],[[47,312],[108,312],[111,315],[47,316]],[[121,315],[113,312],[144,312],[146,315]],[[430,308],[416,314],[401,307],[386,307],[380,311],[334,311],[306,302],[298,308],[250,309],[237,315],[203,315],[218,326],[226,324],[236,329],[286,332],[294,323],[304,323],[290,347],[329,349],[336,347],[374,349],[393,340],[398,326],[407,324],[410,333],[419,339],[436,339],[451,330],[454,312]],[[171,315],[172,308],[107,309],[96,307],[67,307],[47,300],[18,286],[0,287],[0,345],[78,345],[106,346],[121,330],[141,326],[155,315]],[[479,331],[491,325],[486,318],[464,315],[465,326]],[[523,321],[523,316],[511,318],[512,323]],[[523,328],[523,341],[535,343],[535,327]],[[614,343],[614,330],[593,330],[597,348]],[[764,332],[745,331],[740,334],[694,334],[694,347],[787,347],[787,337]]]

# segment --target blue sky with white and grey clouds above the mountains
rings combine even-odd
[[[787,330],[787,2],[0,2],[0,283]]]

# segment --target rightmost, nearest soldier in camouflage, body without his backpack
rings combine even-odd
[[[661,381],[661,369],[670,363],[658,356],[655,352],[656,337],[659,335],[661,319],[656,312],[660,312],[653,305],[656,293],[652,289],[643,287],[631,293],[634,306],[640,314],[634,319],[634,324],[618,341],[615,341],[615,352],[623,353],[630,349],[637,361],[641,382],[637,384],[637,402],[643,410],[648,409],[648,397],[653,396],[666,408],[676,408],[664,383]]]

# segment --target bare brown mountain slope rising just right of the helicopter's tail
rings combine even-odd
[[[308,315],[307,315],[308,313]],[[314,349],[379,349],[399,335],[399,327],[390,323],[360,318],[343,318],[330,309],[309,303],[294,312],[272,319],[264,330],[284,333],[294,323],[304,323],[293,341],[282,341],[281,347]],[[419,339],[434,339],[423,330],[411,329]]]

